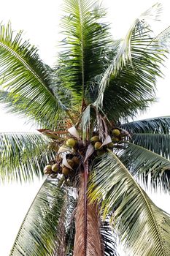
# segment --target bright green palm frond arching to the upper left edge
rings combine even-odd
[[[55,72],[39,59],[36,47],[23,41],[22,31],[12,31],[10,23],[0,26],[0,67],[1,91],[9,92],[1,102],[13,103],[13,110],[16,106],[17,112],[24,110],[40,124],[51,124],[66,109],[53,90]]]

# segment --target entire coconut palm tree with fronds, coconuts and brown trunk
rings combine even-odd
[[[170,116],[130,121],[155,101],[170,29],[157,37],[147,18],[113,40],[93,0],[65,0],[56,67],[0,29],[0,100],[39,132],[0,134],[2,181],[46,175],[11,256],[170,255],[169,214],[142,187],[169,192]],[[44,169],[44,171],[43,171]]]

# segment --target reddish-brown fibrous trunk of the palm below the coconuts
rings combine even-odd
[[[76,212],[74,256],[103,256],[101,249],[100,219],[96,203],[86,197],[85,175],[80,174],[80,190]]]

